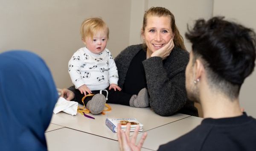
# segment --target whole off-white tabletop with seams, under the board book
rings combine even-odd
[[[157,150],[159,145],[169,142],[200,124],[201,118],[185,114],[159,116],[151,108],[136,108],[124,105],[111,105],[112,110],[105,115],[91,115],[89,119],[80,113],[71,116],[67,113],[53,114],[46,131],[49,151],[119,151],[116,133],[106,125],[106,118],[137,118],[143,123],[143,132],[148,137],[142,151]],[[131,136],[133,133],[130,134]]]

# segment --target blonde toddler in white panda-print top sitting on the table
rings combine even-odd
[[[90,94],[99,92],[96,90],[114,89],[121,91],[117,85],[118,72],[116,64],[113,60],[111,52],[106,48],[109,29],[106,23],[98,17],[88,18],[84,20],[81,25],[81,38],[85,47],[77,50],[69,61],[69,74],[70,78],[75,85],[76,89],[81,94]],[[92,92],[93,91],[93,92]],[[147,91],[143,90],[141,96],[134,95],[131,97],[134,107],[141,107],[140,99],[144,99]],[[115,95],[111,93],[110,95]],[[108,95],[106,96],[108,97]],[[105,107],[106,98],[102,94],[96,94],[93,97],[88,97],[90,100],[84,102],[87,109],[92,114],[99,114]],[[80,100],[78,100],[80,101]],[[148,102],[148,96],[147,96]],[[145,106],[145,105],[144,105]],[[148,103],[147,103],[148,106]]]

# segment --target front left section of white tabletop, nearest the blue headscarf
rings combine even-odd
[[[119,151],[115,140],[70,128],[47,132],[46,139],[48,151]],[[150,150],[143,148],[142,151]]]

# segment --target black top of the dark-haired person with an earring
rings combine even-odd
[[[159,151],[256,151],[256,119],[244,113],[232,118],[207,118]]]

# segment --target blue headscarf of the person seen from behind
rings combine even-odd
[[[32,52],[0,54],[0,151],[46,151],[44,132],[58,93],[45,62]]]

